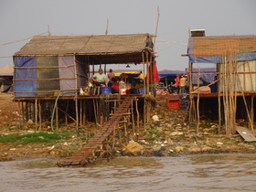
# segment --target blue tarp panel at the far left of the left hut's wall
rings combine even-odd
[[[36,67],[37,58],[36,57],[16,57],[15,66],[16,67]],[[33,97],[36,96],[37,91],[37,69],[21,69],[17,68],[15,70],[15,92],[16,97]]]

